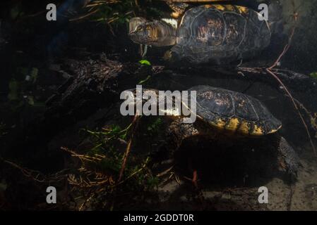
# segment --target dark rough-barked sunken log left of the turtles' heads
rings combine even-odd
[[[71,60],[66,72],[71,77],[47,100],[45,120],[76,122],[100,108],[119,101],[121,91],[131,89],[150,75],[150,68],[113,60]]]

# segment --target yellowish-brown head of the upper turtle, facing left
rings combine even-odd
[[[136,44],[170,46],[176,42],[176,30],[162,20],[148,21],[145,18],[132,18],[128,35]]]

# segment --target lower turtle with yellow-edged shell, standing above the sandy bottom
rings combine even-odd
[[[142,91],[143,96],[150,96],[150,92],[153,91],[158,93],[155,89],[142,89]],[[246,94],[208,85],[193,86],[187,91],[189,99],[194,99],[191,98],[191,93],[196,93],[196,112],[194,112],[196,121],[185,123],[184,116],[180,114],[168,115],[172,118],[172,122],[167,126],[164,146],[170,153],[174,155],[181,150],[184,141],[192,138],[203,137],[226,145],[229,142],[234,145],[238,142],[264,141],[265,145],[273,147],[273,158],[290,180],[297,179],[297,172],[301,165],[299,157],[294,148],[279,134],[282,122],[274,117],[261,101]],[[145,103],[144,98],[142,101]],[[158,105],[165,104],[162,102],[165,101],[164,98],[157,98],[157,101]],[[192,110],[189,102],[184,101],[184,98],[181,99],[181,104]],[[177,104],[174,104],[174,110],[175,107]],[[197,185],[196,182],[197,172],[194,169],[193,183]]]

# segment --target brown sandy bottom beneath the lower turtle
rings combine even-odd
[[[310,154],[308,154],[310,155]],[[308,157],[309,160],[303,158]],[[317,210],[317,169],[311,156],[301,155],[298,180],[293,184],[280,177],[260,179],[258,186],[208,187],[200,180],[196,189],[186,176],[169,172],[158,188],[159,210]],[[165,168],[168,167],[165,165]],[[248,183],[248,176],[244,177]],[[268,188],[268,203],[258,203],[258,188]],[[150,203],[150,202],[149,202]],[[151,204],[151,203],[150,203]]]

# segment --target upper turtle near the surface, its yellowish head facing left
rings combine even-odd
[[[275,5],[272,7],[277,8]],[[177,8],[179,16],[186,5]],[[260,13],[235,5],[195,6],[186,10],[176,23],[171,21],[174,20],[132,18],[128,35],[136,44],[172,46],[163,57],[171,64],[221,65],[256,56],[269,46],[273,32],[273,23],[268,23]]]

